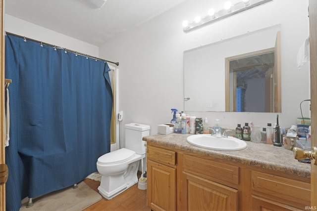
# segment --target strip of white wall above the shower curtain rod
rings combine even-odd
[[[82,42],[8,14],[5,14],[4,29],[9,33],[99,57],[99,47],[96,45]]]

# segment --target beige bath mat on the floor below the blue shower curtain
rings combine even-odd
[[[102,199],[102,196],[85,182],[77,185],[76,189],[71,186],[34,198],[34,205],[30,208],[26,208],[26,197],[22,200],[20,211],[82,211]]]

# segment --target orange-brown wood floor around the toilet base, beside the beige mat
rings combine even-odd
[[[98,191],[99,181],[85,179],[84,182],[93,190]],[[84,211],[150,211],[147,208],[147,190],[140,190],[138,184],[123,191],[111,200],[104,197],[96,204],[86,208]]]

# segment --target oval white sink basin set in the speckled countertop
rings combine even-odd
[[[228,136],[217,138],[211,134],[197,134],[187,137],[187,142],[205,149],[236,151],[247,148],[247,143],[238,138]]]

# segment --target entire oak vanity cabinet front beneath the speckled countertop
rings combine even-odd
[[[297,211],[310,178],[153,143],[147,145],[148,207],[154,211]]]

